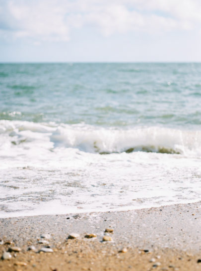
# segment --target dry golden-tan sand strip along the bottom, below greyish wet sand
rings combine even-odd
[[[0,255],[10,245],[0,245]],[[190,252],[156,249],[150,251],[126,247],[97,239],[66,240],[53,247],[53,253],[10,252],[10,260],[0,260],[0,271],[194,271],[201,270],[199,255]]]

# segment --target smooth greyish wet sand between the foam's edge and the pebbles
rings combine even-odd
[[[161,243],[163,239],[164,243],[166,240],[164,247],[175,248],[183,239],[190,247],[190,236],[188,237],[190,234],[194,249],[199,250],[201,245],[195,237],[201,228],[201,201],[129,211],[0,218],[0,238],[3,239],[3,236],[8,239],[14,238],[17,244],[24,245],[29,238],[32,239],[44,232],[53,234],[54,240],[59,242],[70,232],[81,235],[87,231],[95,231],[97,238],[101,239],[103,229],[109,226],[115,228],[114,235],[117,241],[118,236],[124,234],[125,241],[129,240],[132,245],[136,243],[140,245],[140,235],[143,235],[148,243],[154,243],[155,236],[158,235],[158,242]],[[157,229],[160,229],[159,233]],[[164,239],[167,235],[168,239]],[[179,237],[177,242],[173,241],[173,235]]]

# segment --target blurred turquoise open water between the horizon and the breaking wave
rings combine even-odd
[[[201,124],[201,64],[0,64],[0,119]]]

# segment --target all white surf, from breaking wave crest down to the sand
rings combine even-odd
[[[0,217],[201,199],[201,131],[1,120],[0,161]]]

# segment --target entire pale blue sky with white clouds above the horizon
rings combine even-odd
[[[201,62],[201,0],[0,0],[0,62]]]

